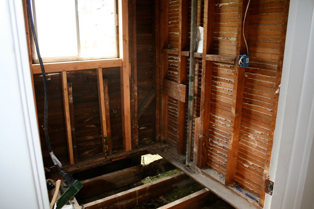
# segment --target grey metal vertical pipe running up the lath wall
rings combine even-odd
[[[196,52],[196,30],[197,30],[197,0],[192,0],[191,9],[191,42],[190,42],[190,74],[189,74],[189,97],[187,109],[187,153],[186,165],[191,160],[192,149],[192,129],[194,111],[194,83],[195,83],[195,57]]]

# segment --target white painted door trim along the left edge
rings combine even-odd
[[[0,1],[0,14],[0,208],[49,208],[22,1]]]

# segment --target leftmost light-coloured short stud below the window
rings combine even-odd
[[[69,111],[69,97],[68,97],[68,82],[67,82],[67,72],[61,72],[62,80],[62,95],[63,95],[63,108],[64,108],[64,118],[67,133],[67,144],[68,144],[68,155],[70,164],[74,164],[73,157],[73,146],[72,146],[72,135],[71,135],[71,123],[70,123],[70,111]]]

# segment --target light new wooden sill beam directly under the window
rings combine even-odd
[[[46,73],[98,69],[98,68],[108,68],[108,67],[121,67],[121,66],[122,66],[122,59],[120,58],[44,63]],[[33,74],[41,73],[40,64],[33,64],[32,68],[33,68]]]

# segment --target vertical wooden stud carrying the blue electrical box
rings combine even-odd
[[[233,83],[233,96],[232,96],[232,107],[231,107],[231,123],[230,123],[230,138],[226,165],[226,179],[225,185],[232,185],[234,183],[236,175],[236,163],[239,146],[239,136],[241,127],[241,112],[242,112],[242,99],[243,99],[243,88],[244,88],[244,77],[245,68],[238,66],[238,55],[246,54],[246,47],[242,35],[244,14],[246,10],[247,0],[240,0],[238,6],[238,26],[237,26],[237,42],[236,42],[236,63],[234,72],[234,83]],[[247,31],[248,20],[246,21]],[[246,32],[247,34],[247,32]]]

